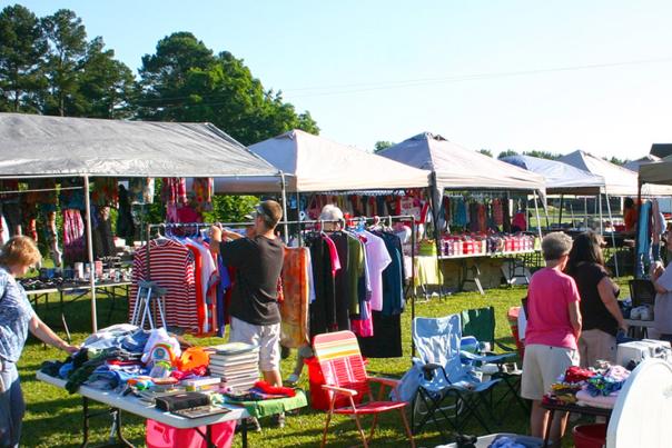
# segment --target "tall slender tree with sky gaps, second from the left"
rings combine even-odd
[[[61,117],[82,113],[78,80],[87,56],[87,31],[81,19],[69,9],[59,9],[42,19],[51,47],[47,58],[49,93],[43,112]]]

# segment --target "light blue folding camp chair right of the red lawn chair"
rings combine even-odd
[[[413,432],[419,432],[432,420],[436,429],[446,437],[446,421],[456,432],[464,432],[467,422],[474,418],[490,434],[480,408],[491,419],[495,419],[487,402],[487,394],[500,379],[481,381],[471,362],[463,364],[459,352],[462,331],[459,316],[443,318],[415,318],[413,341],[419,358],[414,358],[414,367],[402,378],[402,399],[413,394]],[[491,357],[472,356],[472,360],[488,361]]]

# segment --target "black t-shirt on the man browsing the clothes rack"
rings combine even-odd
[[[230,315],[247,323],[280,321],[278,279],[285,249],[279,238],[240,238],[220,245],[224,266],[236,268]]]

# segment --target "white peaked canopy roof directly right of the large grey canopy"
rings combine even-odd
[[[428,171],[296,129],[248,149],[288,175],[289,191],[392,190],[429,185]],[[225,182],[220,179],[216,189]],[[239,188],[246,192],[268,191],[263,182],[254,181],[243,182]]]

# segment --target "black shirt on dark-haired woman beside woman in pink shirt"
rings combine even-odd
[[[600,298],[597,283],[609,277],[604,268],[596,263],[582,263],[576,267],[574,275],[576,288],[581,296],[582,330],[602,330],[610,335],[616,335],[619,322],[609,312]],[[617,295],[617,291],[614,291]]]

